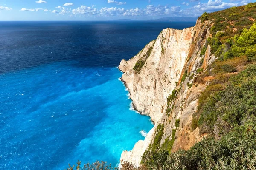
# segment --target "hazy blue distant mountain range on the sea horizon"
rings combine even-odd
[[[129,20],[129,19],[120,19],[120,20],[110,20],[110,21],[157,21],[157,22],[196,22],[198,18],[192,17],[165,17],[155,20]]]

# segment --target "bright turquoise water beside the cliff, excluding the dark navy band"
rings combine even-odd
[[[72,64],[58,62],[1,76],[1,143],[9,148],[1,151],[1,164],[58,164],[55,169],[78,159],[118,164],[122,151],[131,150],[144,139],[141,132],[153,127],[148,116],[131,109],[117,68]]]

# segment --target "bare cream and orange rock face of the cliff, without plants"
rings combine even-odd
[[[210,23],[201,25],[198,20],[195,27],[164,29],[156,40],[151,41],[136,56],[129,61],[121,61],[119,69],[124,73],[122,81],[131,94],[134,108],[150,116],[155,123],[144,141],[137,142],[133,150],[122,153],[121,163],[128,161],[139,166],[141,156],[154,142],[157,125],[164,124],[162,144],[172,135],[176,119],[180,119],[180,127],[175,133],[172,150],[189,149],[201,140],[198,129],[192,132],[190,124],[198,96],[206,84],[193,85],[191,88],[187,84],[192,83],[198,68],[206,69],[215,60],[214,56],[210,56],[209,46],[206,54],[200,55],[209,37],[209,26]],[[181,81],[185,72],[189,76]],[[174,89],[178,91],[176,98],[167,106],[167,98]]]

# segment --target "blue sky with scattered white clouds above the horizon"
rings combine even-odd
[[[0,0],[0,20],[148,20],[198,17],[253,0]]]

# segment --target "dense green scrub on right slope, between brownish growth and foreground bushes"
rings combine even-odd
[[[256,65],[247,68],[241,73],[242,81],[242,76],[238,75],[232,78],[236,80],[235,85],[230,81],[223,90],[207,98],[198,121],[201,133],[211,133],[218,137],[224,131],[224,124],[227,128],[235,127],[251,116],[256,116],[256,76],[252,72],[255,70]]]

